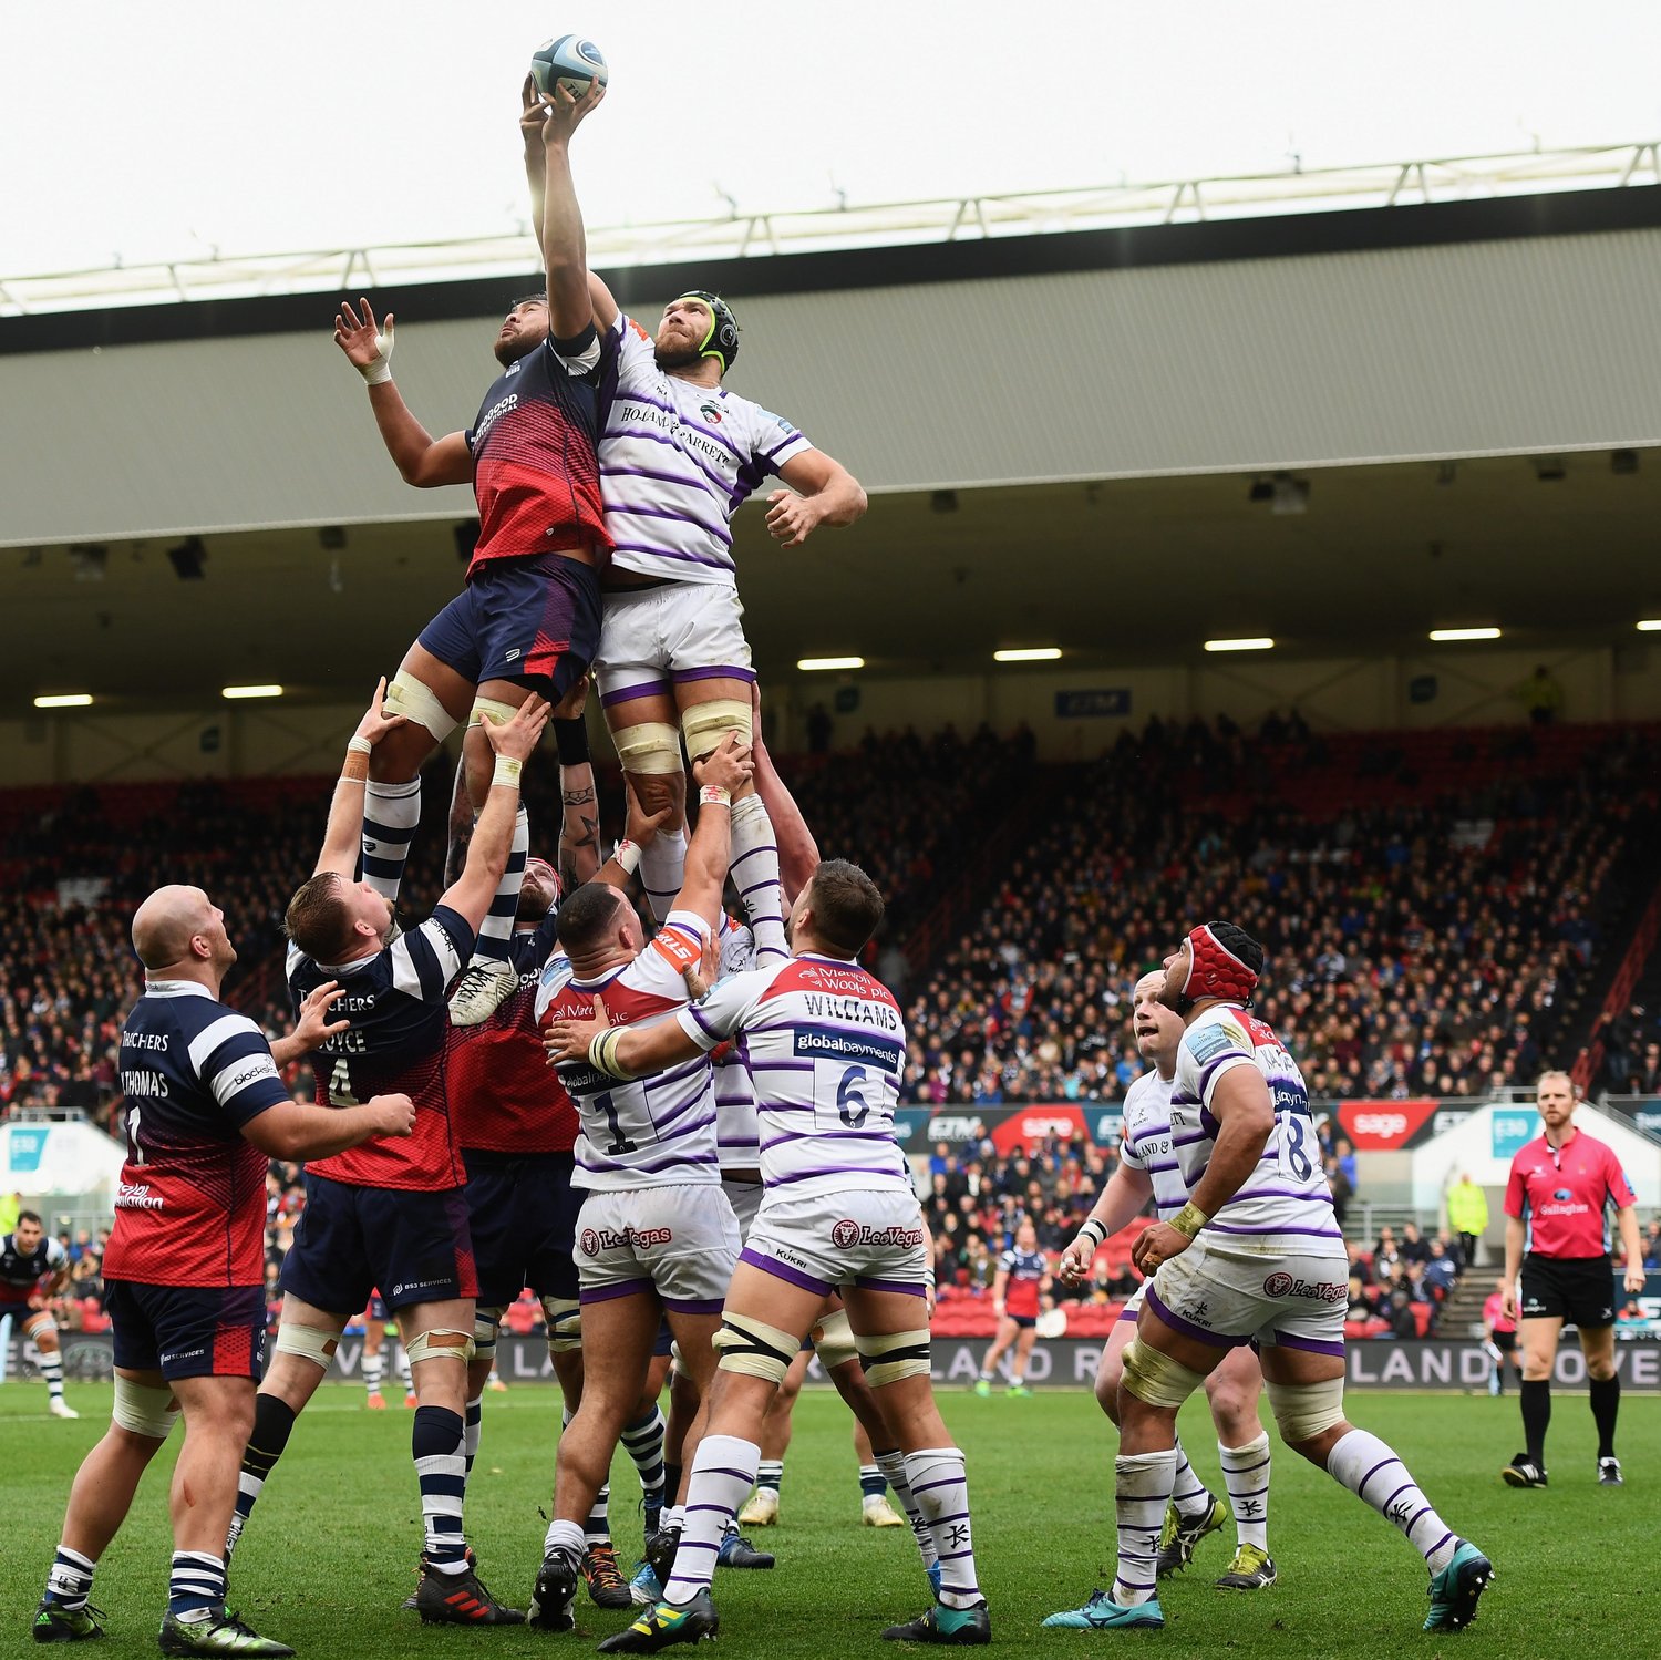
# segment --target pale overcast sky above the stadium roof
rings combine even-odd
[[[593,224],[1661,133],[1648,0],[0,0],[0,277],[510,233],[566,30]]]

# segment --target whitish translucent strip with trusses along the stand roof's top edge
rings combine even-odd
[[[1095,189],[734,213],[588,231],[596,269],[1002,236],[1191,224],[1329,209],[1485,201],[1661,183],[1661,141],[1445,156],[1222,178],[1120,179]],[[505,277],[540,263],[528,234],[443,243],[219,254],[163,264],[0,274],[0,317],[108,306],[247,299]]]

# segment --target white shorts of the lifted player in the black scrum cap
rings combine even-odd
[[[737,588],[668,582],[603,595],[595,680],[603,703],[711,676],[754,680]]]

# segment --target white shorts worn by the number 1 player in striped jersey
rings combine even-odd
[[[733,1206],[709,1183],[591,1191],[576,1218],[583,1303],[656,1291],[678,1314],[719,1314],[737,1253]]]

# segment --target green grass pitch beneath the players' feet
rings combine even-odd
[[[0,1386],[0,1492],[5,1495],[5,1590],[12,1638],[23,1653],[32,1610],[58,1537],[70,1477],[103,1432],[108,1386],[70,1386],[80,1422],[45,1416],[38,1383]],[[420,1510],[409,1464],[410,1414],[367,1412],[362,1389],[326,1386],[301,1419],[231,1572],[231,1605],[302,1657],[379,1660],[404,1655],[590,1653],[626,1623],[578,1602],[575,1637],[527,1628],[422,1627],[399,1602],[414,1589]],[[1661,1399],[1628,1396],[1621,1454],[1628,1486],[1593,1476],[1591,1416],[1583,1396],[1560,1396],[1550,1447],[1551,1487],[1513,1492],[1498,1479],[1516,1451],[1516,1397],[1350,1394],[1352,1417],[1407,1459],[1448,1524],[1493,1559],[1497,1579],[1477,1623],[1457,1635],[1418,1630],[1425,1574],[1407,1542],[1335,1482],[1276,1442],[1271,1550],[1281,1584],[1256,1595],[1211,1580],[1232,1549],[1214,1534],[1193,1569],[1161,1595],[1163,1633],[1043,1632],[1043,1615],[1075,1607],[1111,1580],[1115,1439],[1090,1396],[1031,1399],[942,1394],[968,1454],[980,1582],[993,1642],[1010,1655],[1133,1647],[1189,1657],[1598,1657],[1661,1653]],[[541,1555],[558,1397],[527,1384],[487,1396],[485,1436],[468,1494],[468,1535],[485,1582],[523,1607]],[[1201,1477],[1219,1486],[1216,1444],[1199,1406],[1183,1417]],[[105,1655],[154,1653],[168,1575],[166,1467],[158,1457],[128,1525],[98,1570],[93,1600],[110,1615]],[[613,1486],[620,1555],[639,1545],[638,1487],[626,1457]],[[804,1396],[786,1462],[782,1525],[757,1530],[776,1550],[772,1572],[716,1577],[723,1650],[792,1657],[895,1653],[885,1623],[927,1605],[902,1529],[859,1525],[849,1419],[827,1394]],[[1227,1542],[1226,1542],[1227,1540]]]

